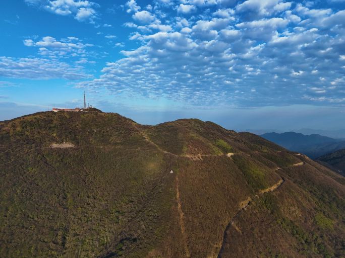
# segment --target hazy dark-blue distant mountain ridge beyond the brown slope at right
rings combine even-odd
[[[334,139],[319,134],[304,135],[296,132],[265,133],[261,137],[286,149],[301,152],[311,158],[345,148],[344,139]]]

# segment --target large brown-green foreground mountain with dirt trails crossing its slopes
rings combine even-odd
[[[0,257],[345,255],[344,178],[212,122],[0,122],[0,178]]]

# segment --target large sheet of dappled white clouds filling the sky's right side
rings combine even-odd
[[[284,0],[127,3],[138,47],[78,87],[195,106],[345,100],[344,11]]]

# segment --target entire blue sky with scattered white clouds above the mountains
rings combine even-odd
[[[345,128],[345,1],[5,0],[0,120],[83,104],[140,123]]]

